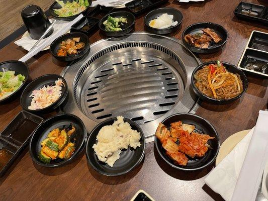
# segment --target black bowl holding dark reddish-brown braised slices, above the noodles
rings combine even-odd
[[[202,29],[206,29],[206,28],[210,28],[210,29],[214,30],[221,37],[222,40],[217,44],[215,42],[211,42],[209,44],[208,48],[198,48],[198,47],[195,47],[193,45],[190,45],[184,39],[184,37],[187,34],[203,33]],[[222,26],[220,26],[218,24],[211,23],[211,22],[201,22],[201,23],[196,23],[196,24],[190,25],[183,32],[184,45],[188,49],[190,49],[192,52],[196,52],[196,53],[200,53],[200,54],[210,54],[210,53],[217,52],[217,51],[221,50],[223,48],[223,46],[225,45],[225,43],[227,42],[227,40],[228,40],[228,32],[226,31],[226,29],[224,29]]]

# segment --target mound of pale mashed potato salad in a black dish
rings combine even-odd
[[[113,167],[116,160],[120,158],[122,149],[128,146],[136,149],[141,146],[140,133],[132,130],[128,122],[124,122],[123,117],[117,117],[113,125],[104,126],[97,135],[97,144],[93,149],[98,159]]]

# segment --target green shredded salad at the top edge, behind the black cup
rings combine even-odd
[[[61,9],[54,9],[54,12],[58,17],[70,17],[76,15],[90,6],[87,0],[74,0],[73,2],[66,2],[66,4],[64,4],[63,1],[56,0],[56,2],[62,7]]]

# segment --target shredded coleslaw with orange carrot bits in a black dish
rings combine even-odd
[[[43,86],[38,90],[33,90],[30,97],[33,97],[31,105],[28,107],[29,110],[39,110],[46,108],[59,99],[61,95],[61,86],[64,85],[62,79],[55,81],[55,85]]]

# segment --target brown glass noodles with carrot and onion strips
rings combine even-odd
[[[194,74],[194,78],[196,87],[215,99],[230,99],[243,91],[239,74],[228,72],[220,61],[204,66]]]

